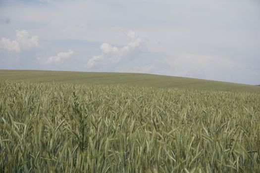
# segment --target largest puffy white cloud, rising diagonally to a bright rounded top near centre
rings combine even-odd
[[[128,31],[126,36],[129,38],[127,45],[122,48],[112,46],[109,43],[103,43],[100,48],[102,50],[101,55],[93,56],[85,66],[91,68],[101,63],[118,63],[121,59],[131,58],[137,55],[144,48],[144,41],[138,37],[134,31]]]

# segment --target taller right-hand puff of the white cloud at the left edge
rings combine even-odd
[[[29,36],[29,32],[26,30],[16,30],[16,40],[22,44],[24,48],[37,47],[39,45],[38,36]]]

